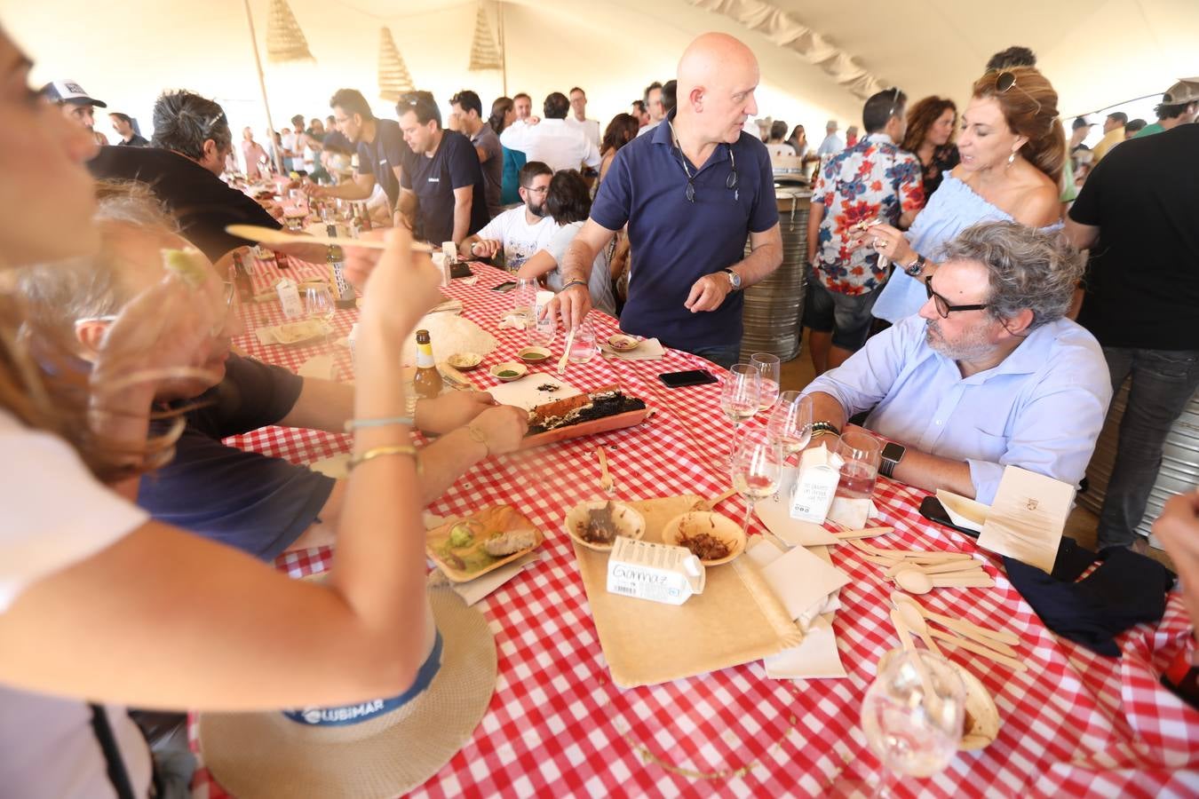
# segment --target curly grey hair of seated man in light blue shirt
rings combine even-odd
[[[1011,319],[1032,311],[1029,329],[1054,322],[1070,310],[1084,260],[1059,232],[1016,222],[984,222],[963,230],[941,250],[942,261],[977,261],[987,267],[987,311]]]

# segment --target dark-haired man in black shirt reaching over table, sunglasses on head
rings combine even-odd
[[[225,225],[279,229],[261,205],[221,180],[225,156],[233,152],[233,133],[217,103],[189,91],[164,92],[153,107],[151,144],[101,147],[88,169],[98,178],[149,186],[188,241],[213,262],[247,243],[227,234]],[[283,244],[275,249],[306,261],[325,261],[325,248],[317,244]]]

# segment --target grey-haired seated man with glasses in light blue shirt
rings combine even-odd
[[[818,432],[870,411],[866,426],[906,448],[884,474],[983,503],[1007,465],[1078,485],[1111,399],[1098,343],[1065,319],[1081,272],[1056,235],[968,228],[946,244],[918,315],[805,389]]]

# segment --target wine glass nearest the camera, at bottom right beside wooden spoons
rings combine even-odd
[[[886,795],[894,775],[928,777],[950,764],[962,742],[965,696],[953,664],[927,649],[879,661],[862,701],[862,732],[881,765],[874,797]]]

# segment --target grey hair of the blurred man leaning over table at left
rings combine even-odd
[[[179,224],[145,183],[97,181],[96,216],[103,235],[100,252],[59,264],[22,270],[19,287],[29,308],[43,323],[73,334],[80,319],[113,316],[132,298],[121,277],[110,225],[137,228],[156,235],[179,232]]]

